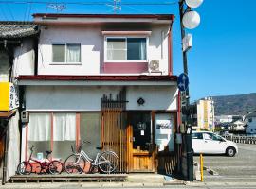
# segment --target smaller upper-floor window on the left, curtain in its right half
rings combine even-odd
[[[52,62],[81,62],[81,44],[52,44]]]

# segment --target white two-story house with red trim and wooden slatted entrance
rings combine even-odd
[[[173,75],[174,15],[34,14],[35,65],[18,77],[21,160],[29,146],[64,159],[70,146],[119,155],[119,172],[171,173],[178,150],[178,90]]]

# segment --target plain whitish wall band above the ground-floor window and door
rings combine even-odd
[[[46,112],[86,112],[101,111],[103,94],[115,95],[121,87],[81,87],[81,86],[27,86],[27,111]],[[139,106],[137,99],[142,97],[145,104]],[[127,87],[126,110],[177,110],[177,90],[167,86]]]

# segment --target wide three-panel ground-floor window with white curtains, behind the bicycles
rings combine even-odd
[[[89,141],[83,149],[94,158],[96,147],[101,146],[101,112],[30,112],[27,125],[27,158],[30,146],[36,146],[33,158],[45,159],[46,150],[52,158],[64,161],[71,154],[71,146],[78,147]]]

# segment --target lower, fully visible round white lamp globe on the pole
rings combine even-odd
[[[188,11],[182,18],[183,26],[193,29],[200,24],[200,16],[196,11]]]

